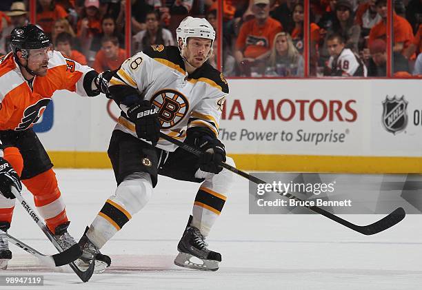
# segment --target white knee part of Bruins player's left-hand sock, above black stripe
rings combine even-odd
[[[148,203],[152,195],[150,174],[135,172],[126,176],[114,196],[123,204],[129,213],[136,214]]]

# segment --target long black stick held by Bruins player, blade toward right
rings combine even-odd
[[[201,156],[203,154],[203,152],[197,148],[194,148],[186,143],[183,143],[177,139],[174,139],[170,136],[165,135],[163,132],[160,132],[160,137],[165,139],[166,141],[169,141],[170,143],[173,143],[174,145],[177,145],[179,147],[181,147],[182,149],[197,155],[197,156]],[[231,172],[234,172],[235,174],[238,174],[250,181],[252,181],[253,183],[257,183],[257,184],[265,184],[266,182],[260,178],[257,178],[255,176],[252,176],[250,174],[247,174],[246,172],[243,172],[239,169],[237,169],[236,167],[232,167],[231,165],[228,165],[227,163],[221,163],[221,167],[230,170]],[[303,201],[300,198],[298,198],[297,196],[294,196],[292,194],[283,192],[283,194],[281,194],[282,196],[285,196],[287,198],[293,199],[293,200],[298,200],[298,201]],[[382,218],[381,220],[378,220],[370,225],[354,225],[352,222],[348,222],[347,220],[343,220],[343,218],[339,218],[339,216],[336,216],[328,211],[326,211],[325,209],[321,209],[321,207],[316,207],[316,206],[309,206],[309,205],[304,205],[304,207],[316,212],[316,214],[321,214],[323,216],[325,216],[326,218],[330,218],[330,220],[334,220],[334,222],[338,222],[339,224],[348,227],[349,229],[352,229],[354,231],[358,231],[361,234],[364,235],[373,235],[373,234],[378,234],[381,231],[385,231],[385,229],[388,229],[390,227],[392,227],[393,225],[396,225],[398,222],[400,222],[401,220],[403,220],[403,218],[405,218],[405,211],[403,209],[403,207],[397,207],[396,209],[394,209],[394,211],[392,211],[390,214],[388,214],[388,216],[385,216],[384,218]]]

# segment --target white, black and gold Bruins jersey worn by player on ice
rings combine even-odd
[[[135,89],[140,98],[157,108],[161,132],[180,141],[184,141],[189,127],[208,127],[218,136],[228,94],[228,84],[221,72],[204,63],[189,75],[179,49],[163,45],[153,45],[127,59],[110,80],[109,89],[122,110],[114,130],[137,136],[134,123],[125,114],[128,106],[119,102],[119,98],[133,94]],[[177,148],[163,138],[157,147],[166,151]]]

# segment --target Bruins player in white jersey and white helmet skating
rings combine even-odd
[[[223,209],[233,178],[219,164],[234,166],[234,162],[226,158],[218,139],[228,84],[206,62],[214,39],[208,21],[187,17],[177,28],[178,48],[154,45],[134,54],[111,79],[109,92],[121,116],[108,156],[118,186],[81,238],[83,258],[101,249],[148,203],[160,174],[201,183],[174,263],[204,271],[219,269],[221,254],[208,249],[205,237]],[[160,131],[205,154],[199,158],[177,148],[159,138]],[[192,262],[192,257],[203,262]]]

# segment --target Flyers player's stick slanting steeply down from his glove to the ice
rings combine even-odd
[[[50,240],[50,242],[52,242],[54,247],[56,247],[56,249],[59,252],[62,253],[63,248],[61,247],[59,242],[57,242],[57,240],[54,238],[50,229],[48,229],[48,227],[46,226],[46,224],[44,224],[44,222],[41,220],[41,218],[39,218],[39,216],[37,216],[34,209],[32,209],[32,207],[30,207],[30,205],[28,205],[26,200],[23,199],[23,197],[21,196],[21,193],[14,186],[12,186],[11,189],[12,189],[12,194],[17,198],[17,200],[19,200],[19,203],[21,203],[22,207],[26,210],[26,212],[28,212],[28,214],[30,215],[32,220],[34,220],[34,222],[39,226],[41,231],[43,231],[43,233],[47,236],[48,240]],[[74,251],[76,251],[76,249],[77,249],[79,251],[79,256],[81,256],[82,251],[81,251],[81,247],[79,247],[79,244],[75,244],[72,247],[74,247],[74,249],[75,249]],[[95,259],[95,257],[94,257],[94,259]],[[74,262],[71,262],[69,264],[69,266],[70,266],[70,268],[72,268],[74,273],[76,273],[77,276],[79,278],[81,278],[81,280],[83,282],[87,282],[88,280],[90,280],[92,273],[94,273],[95,262],[94,262],[94,260],[92,260],[92,262],[90,263],[90,267],[88,267],[88,269],[86,271],[81,271],[77,267],[77,265],[74,264]]]

